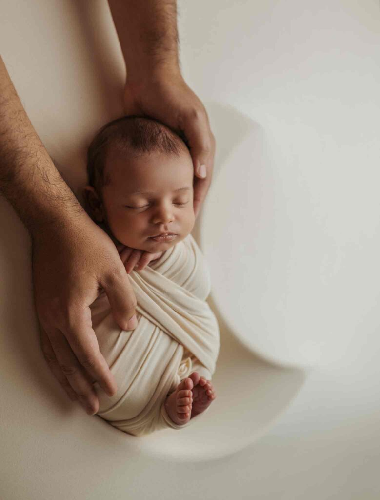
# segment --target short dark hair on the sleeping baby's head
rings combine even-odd
[[[104,166],[110,147],[121,155],[136,157],[149,153],[180,156],[190,150],[183,132],[172,130],[162,122],[138,115],[122,116],[103,125],[87,151],[88,183],[101,198],[101,189],[110,182]]]

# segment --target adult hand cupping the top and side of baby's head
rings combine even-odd
[[[174,130],[184,132],[193,159],[194,213],[197,217],[210,187],[216,146],[202,102],[179,71],[162,70],[154,75],[144,75],[138,81],[127,78],[124,110],[126,114],[156,118]],[[202,175],[201,165],[205,165],[206,176]]]

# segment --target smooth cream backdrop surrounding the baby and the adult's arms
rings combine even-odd
[[[74,406],[39,351],[30,239],[0,199],[0,496],[378,498],[379,2],[178,11],[218,147],[194,231],[221,325],[218,400],[189,432],[146,441]],[[2,1],[0,42],[78,195],[85,144],[121,112],[106,1]]]

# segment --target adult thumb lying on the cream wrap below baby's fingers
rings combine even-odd
[[[129,281],[128,274],[123,272],[112,276],[107,283],[102,284],[107,294],[116,323],[123,330],[133,330],[137,326],[135,309],[137,305],[136,296]]]

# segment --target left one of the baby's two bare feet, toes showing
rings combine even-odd
[[[193,402],[193,393],[191,389],[198,382],[199,374],[194,371],[190,376],[181,380],[176,390],[166,398],[166,412],[177,425],[187,423],[192,416],[191,404]]]

